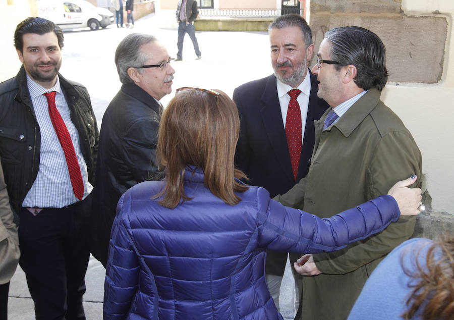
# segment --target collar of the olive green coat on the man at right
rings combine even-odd
[[[336,127],[345,137],[349,137],[353,130],[371,113],[380,100],[381,91],[375,88],[369,89],[358,101],[356,101],[350,109],[336,122],[333,127]],[[323,119],[326,117],[329,108]],[[320,123],[322,123],[320,119]]]

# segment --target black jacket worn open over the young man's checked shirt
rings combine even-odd
[[[94,184],[99,132],[87,89],[59,74],[60,85],[71,111],[71,121]],[[22,66],[15,78],[0,83],[0,157],[10,203],[19,212],[39,171],[41,135]]]

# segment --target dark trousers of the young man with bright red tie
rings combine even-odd
[[[36,216],[20,212],[19,264],[35,303],[37,320],[85,319],[82,296],[90,252],[86,216],[89,198]]]

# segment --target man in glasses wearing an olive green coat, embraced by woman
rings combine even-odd
[[[331,108],[315,121],[306,178],[275,199],[327,218],[386,194],[396,179],[416,174],[413,187],[420,187],[421,152],[380,100],[388,75],[380,38],[360,27],[329,30],[312,73],[320,81],[318,96]],[[414,217],[401,217],[345,249],[300,258],[294,265],[302,275],[296,319],[346,319],[375,266],[412,236],[414,226]]]

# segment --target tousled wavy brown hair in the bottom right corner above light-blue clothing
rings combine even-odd
[[[416,267],[416,271],[404,268],[415,284],[409,285],[412,292],[402,317],[411,319],[423,306],[424,320],[454,319],[454,238],[432,244],[426,254],[426,265],[416,261]]]

